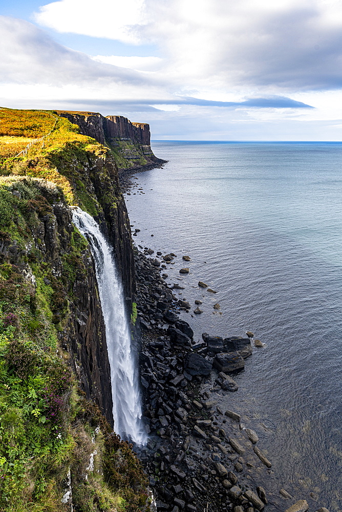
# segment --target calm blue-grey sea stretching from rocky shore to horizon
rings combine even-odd
[[[203,314],[183,314],[197,337],[250,329],[266,344],[224,405],[273,462],[269,509],[290,505],[284,487],[310,510],[342,510],[342,144],[152,145],[169,162],[136,175],[145,194],[126,197],[135,241],[178,255],[168,281],[203,300]]]

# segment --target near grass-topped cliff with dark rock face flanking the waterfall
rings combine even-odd
[[[94,261],[71,206],[112,242],[132,311],[129,219],[113,152],[80,132],[54,112],[0,109],[0,510],[133,511],[147,498],[112,430]]]

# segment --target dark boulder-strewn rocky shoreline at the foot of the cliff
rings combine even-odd
[[[132,182],[131,177],[126,179],[126,190]],[[196,343],[193,330],[179,317],[180,311],[192,306],[174,294],[179,285],[165,282],[162,267],[174,258],[173,253],[163,255],[148,247],[134,250],[143,415],[149,435],[147,445],[137,453],[156,509],[263,510],[273,499],[263,487],[273,472],[272,462],[259,446],[257,433],[245,424],[243,413],[219,406],[220,397],[238,390],[233,376],[252,353],[253,333],[227,338],[203,333]],[[295,501],[283,488],[280,495]],[[288,512],[308,508],[300,500]]]

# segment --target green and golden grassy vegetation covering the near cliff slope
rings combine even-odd
[[[0,110],[4,136],[41,137],[54,122],[49,113]],[[79,204],[93,215],[101,209],[82,173],[108,151],[58,118],[44,148],[37,144],[26,158],[2,162],[0,510],[67,510],[61,497],[69,468],[74,510],[138,510],[146,500],[138,460],[84,399],[66,364],[68,354],[58,348],[57,333],[68,314],[73,282],[85,271],[88,244],[71,227],[56,277],[39,239],[40,223],[53,220],[54,202]]]

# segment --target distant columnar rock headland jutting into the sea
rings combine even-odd
[[[80,133],[107,145],[120,171],[165,163],[151,149],[151,134],[146,123],[132,123],[122,116],[103,117],[95,112],[56,111],[80,128]]]

